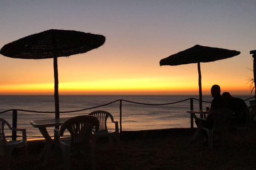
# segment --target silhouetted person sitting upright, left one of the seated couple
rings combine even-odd
[[[220,86],[217,84],[214,84],[211,88],[211,95],[213,97],[211,108],[209,110],[209,113],[214,111],[215,109],[221,108],[221,94],[220,94]]]

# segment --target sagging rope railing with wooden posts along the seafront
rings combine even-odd
[[[252,99],[252,98],[254,98],[254,96],[251,97],[251,98],[244,99],[244,101]],[[94,109],[94,108],[107,106],[107,105],[110,105],[110,104],[113,104],[113,103],[116,103],[117,101],[119,101],[120,102],[120,104],[119,104],[119,110],[120,110],[120,122],[119,122],[119,124],[120,124],[120,133],[122,133],[122,101],[125,101],[127,103],[139,104],[139,105],[163,106],[163,105],[173,105],[173,104],[181,103],[181,102],[187,101],[187,100],[190,100],[190,110],[194,109],[193,100],[199,101],[199,99],[196,99],[196,98],[187,98],[187,99],[184,99],[184,100],[175,101],[173,103],[148,104],[148,103],[140,103],[140,102],[135,102],[135,101],[130,101],[130,100],[118,99],[118,100],[115,100],[115,101],[111,101],[110,103],[95,106],[95,107],[79,109],[79,110],[75,110],[75,111],[65,111],[65,112],[60,112],[60,113],[74,113],[74,112],[86,111],[86,110],[90,110],[90,109]],[[204,103],[211,103],[211,101],[203,101],[203,102]],[[18,111],[19,112],[33,112],[33,113],[55,113],[55,112],[43,112],[43,111],[30,111],[30,110],[25,110],[25,109],[9,109],[9,110],[0,112],[0,114],[6,113],[6,112],[11,112],[11,111],[13,113],[12,114],[12,127],[13,128],[17,128],[17,114],[18,114]],[[191,117],[191,116],[190,116],[190,123],[191,123],[190,127],[194,128],[194,121],[193,121],[193,117]],[[13,131],[12,132],[12,140],[16,140],[16,139],[17,139],[17,132]]]

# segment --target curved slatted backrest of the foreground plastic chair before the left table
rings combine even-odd
[[[90,135],[94,126],[96,130],[99,129],[97,118],[89,115],[76,116],[61,125],[60,135],[63,136],[64,131],[67,129],[71,135],[71,146],[79,144],[89,145]]]

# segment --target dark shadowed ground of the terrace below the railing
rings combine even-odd
[[[230,133],[214,142],[213,149],[201,140],[191,142],[196,129],[168,129],[123,132],[119,145],[109,147],[106,140],[95,147],[96,169],[256,169],[256,137],[247,130]],[[22,151],[13,156],[10,169],[61,169],[54,156],[42,166],[38,155],[43,142],[28,146],[28,160]],[[0,169],[6,169],[0,158]],[[86,158],[71,157],[70,169],[89,169]]]

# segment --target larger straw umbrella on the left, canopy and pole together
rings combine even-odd
[[[105,43],[105,37],[73,30],[51,29],[6,44],[0,54],[11,58],[53,58],[55,118],[59,118],[58,57],[86,53]]]

